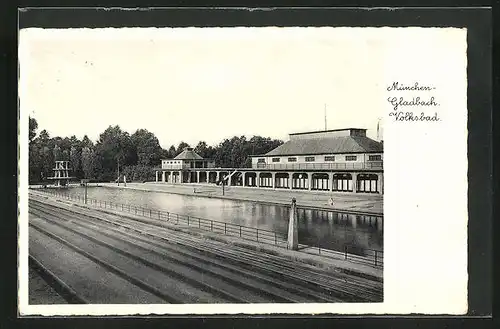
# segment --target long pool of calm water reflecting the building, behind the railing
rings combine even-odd
[[[83,196],[84,188],[74,187],[61,192]],[[108,187],[89,187],[88,197],[258,227],[284,236],[290,214],[287,206]],[[344,245],[349,245],[349,251],[359,255],[371,254],[366,249],[383,250],[381,217],[303,208],[297,213],[299,243],[337,251],[343,251]]]

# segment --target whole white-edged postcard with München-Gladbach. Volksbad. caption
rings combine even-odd
[[[28,28],[19,59],[20,315],[467,312],[466,29]]]

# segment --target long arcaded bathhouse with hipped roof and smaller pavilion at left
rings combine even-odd
[[[252,155],[251,168],[215,168],[192,149],[162,160],[162,181],[217,183],[229,186],[380,193],[383,189],[383,143],[366,129],[346,128],[290,134],[270,152]]]

